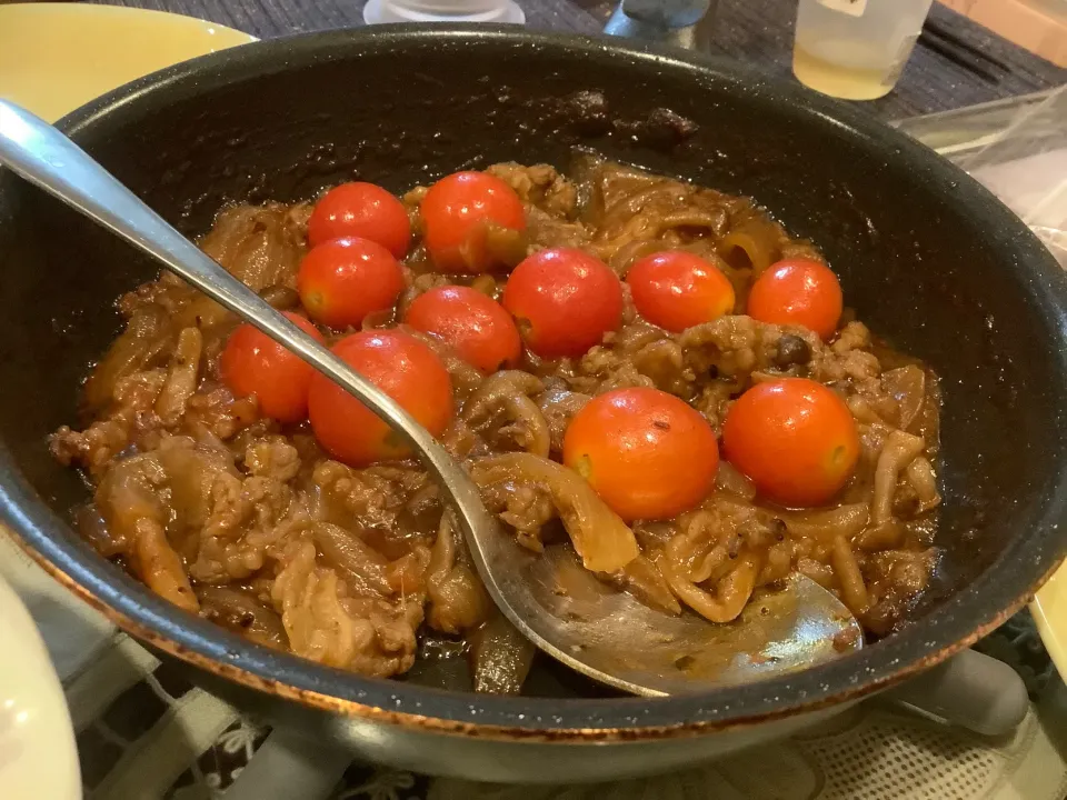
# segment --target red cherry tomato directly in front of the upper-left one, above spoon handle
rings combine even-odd
[[[312,248],[297,273],[297,291],[308,316],[330,328],[359,326],[385,311],[403,289],[400,264],[369,239],[331,239]]]

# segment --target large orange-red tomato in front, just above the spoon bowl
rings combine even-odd
[[[564,436],[564,463],[626,521],[672,519],[715,488],[715,431],[658,389],[618,389],[590,400]]]

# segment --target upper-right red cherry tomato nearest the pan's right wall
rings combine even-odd
[[[810,259],[786,259],[752,283],[748,316],[760,322],[802,326],[829,339],[841,318],[841,284],[829,267]]]

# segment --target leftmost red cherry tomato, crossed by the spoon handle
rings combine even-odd
[[[292,312],[286,312],[286,317],[322,341],[322,334],[307,319]],[[255,394],[263,417],[286,423],[307,418],[308,387],[315,369],[252,326],[239,326],[230,334],[219,359],[219,372],[235,394]]]

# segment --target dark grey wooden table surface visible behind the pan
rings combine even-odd
[[[92,0],[97,1],[97,0]],[[365,0],[107,0],[200,17],[259,38],[362,26]],[[518,0],[530,28],[597,33],[610,0]],[[711,52],[789,77],[796,0],[719,0]],[[868,108],[898,119],[1067,83],[1067,70],[934,4],[927,31],[897,88]]]

